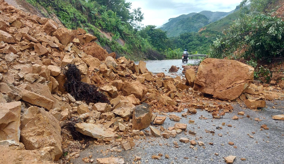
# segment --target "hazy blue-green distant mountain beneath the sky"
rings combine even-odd
[[[161,27],[161,30],[168,31],[168,36],[178,36],[185,32],[198,32],[201,27],[204,27],[212,22],[220,20],[231,12],[211,12],[202,11],[199,13],[192,12],[187,15],[181,15],[176,18],[170,18],[169,22]]]

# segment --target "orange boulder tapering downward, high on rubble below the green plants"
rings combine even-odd
[[[73,32],[66,28],[58,28],[53,33],[53,36],[56,36],[60,43],[64,46],[67,46],[75,38]]]

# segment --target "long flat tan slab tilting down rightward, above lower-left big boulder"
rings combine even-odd
[[[31,103],[33,105],[44,107],[47,110],[50,110],[54,104],[53,100],[46,98],[45,96],[42,96],[40,94],[28,91],[26,89],[21,89],[20,95],[22,97],[21,98],[22,100]]]

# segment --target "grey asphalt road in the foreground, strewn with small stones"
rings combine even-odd
[[[122,150],[121,153],[114,151],[109,152],[106,156],[103,156],[100,150],[111,149],[110,145],[94,146],[83,150],[80,157],[72,162],[74,164],[83,164],[82,158],[92,154],[93,159],[110,157],[111,155],[114,157],[122,156],[125,163],[129,164],[133,162],[136,155],[142,157],[141,163],[149,164],[224,164],[223,157],[234,155],[237,156],[234,164],[283,164],[284,121],[272,119],[272,115],[284,113],[283,101],[267,101],[268,108],[259,111],[243,109],[244,107],[240,107],[241,105],[237,103],[233,104],[233,106],[234,112],[226,113],[223,119],[199,119],[201,115],[206,118],[212,118],[212,116],[211,113],[205,110],[197,109],[197,114],[192,114],[187,118],[182,117],[179,122],[167,118],[162,125],[164,128],[168,128],[174,126],[175,123],[186,123],[187,130],[196,132],[195,136],[184,132],[178,134],[175,138],[170,137],[169,139],[150,136],[146,137],[146,139],[135,140],[136,147],[133,150],[125,151],[121,147],[117,147],[116,149]],[[273,106],[276,109],[273,109]],[[250,118],[240,118],[238,120],[229,118],[237,115],[240,111],[245,112],[244,116],[250,115]],[[181,117],[182,113],[174,114]],[[254,118],[260,118],[262,121],[254,121]],[[189,120],[194,120],[195,124],[188,123]],[[225,126],[222,126],[223,122],[225,122]],[[231,124],[232,127],[228,127],[227,124]],[[269,130],[260,131],[260,126],[263,124],[267,124]],[[216,129],[217,126],[223,129]],[[147,129],[149,130],[149,128]],[[206,129],[215,131],[215,134],[206,133]],[[255,132],[255,134],[252,132]],[[222,134],[222,137],[218,134]],[[248,134],[254,138],[250,138]],[[196,142],[202,141],[205,143],[205,148],[197,145],[195,147],[198,149],[195,151],[190,148],[190,143],[179,142],[180,137],[186,137],[190,140],[195,139]],[[196,140],[196,138],[199,140]],[[174,147],[174,141],[178,142],[178,148]],[[209,142],[213,142],[213,145],[210,145]],[[228,142],[234,142],[234,145],[229,145]],[[160,143],[162,146],[159,145]],[[234,146],[237,146],[237,148],[234,148]],[[163,154],[161,160],[151,159],[152,155],[158,155],[158,153]],[[215,153],[219,153],[219,156],[216,156]],[[165,154],[168,154],[170,158],[166,159]],[[241,161],[241,158],[246,158],[246,161]]]

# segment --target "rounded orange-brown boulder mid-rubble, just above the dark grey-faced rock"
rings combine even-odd
[[[124,81],[121,88],[125,96],[134,94],[137,99],[142,99],[142,97],[148,92],[148,89],[138,81],[132,83]]]

